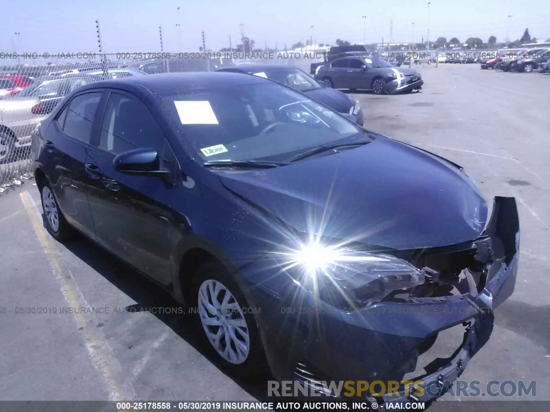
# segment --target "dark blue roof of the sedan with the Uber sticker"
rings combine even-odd
[[[270,80],[259,76],[250,76],[243,73],[216,72],[216,71],[190,71],[187,73],[162,73],[146,76],[123,77],[122,79],[100,80],[84,88],[114,87],[123,88],[124,85],[131,88],[132,85],[141,85],[152,93],[168,94],[175,90],[198,90],[202,88],[215,88],[226,86],[250,85],[256,83],[270,83]]]

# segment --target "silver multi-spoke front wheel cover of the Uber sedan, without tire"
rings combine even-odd
[[[206,280],[199,288],[199,316],[208,341],[229,363],[248,358],[250,332],[237,299],[221,282]]]

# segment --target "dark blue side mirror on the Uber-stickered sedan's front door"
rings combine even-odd
[[[161,169],[156,149],[133,149],[120,153],[113,160],[114,170],[125,175],[167,177],[170,172]]]

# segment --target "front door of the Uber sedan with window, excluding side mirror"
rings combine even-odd
[[[168,285],[172,281],[167,204],[172,187],[160,177],[130,176],[113,169],[114,158],[136,148],[155,148],[164,166],[177,168],[160,126],[136,96],[111,92],[101,127],[86,159],[92,179],[90,210],[99,243],[135,268]]]

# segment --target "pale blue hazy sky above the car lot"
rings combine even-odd
[[[178,7],[180,10],[178,11]],[[336,2],[326,0],[0,0],[0,52],[97,52],[96,20],[103,52],[195,52],[205,32],[207,49],[238,43],[244,34],[257,47],[282,49],[299,41],[334,44],[390,40],[420,42],[427,37],[428,2],[418,0]],[[429,6],[430,40],[443,36],[489,36],[511,40],[529,28],[531,37],[550,37],[550,1],[434,0]],[[362,16],[367,16],[363,19]],[[414,22],[414,25],[412,24]],[[177,24],[180,24],[180,35]],[[313,28],[311,28],[313,26]],[[19,34],[15,34],[19,33]]]

